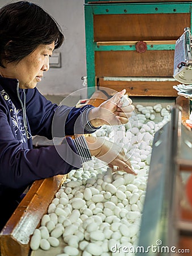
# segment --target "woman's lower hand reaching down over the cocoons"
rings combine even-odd
[[[92,156],[106,162],[109,166],[117,166],[118,170],[137,175],[137,172],[132,170],[130,161],[126,160],[123,148],[118,144],[92,136],[85,139]]]

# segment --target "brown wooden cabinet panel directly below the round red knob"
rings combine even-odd
[[[117,77],[173,77],[174,51],[98,51],[95,75]]]

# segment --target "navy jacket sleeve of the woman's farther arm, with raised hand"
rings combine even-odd
[[[87,113],[91,108],[94,107],[92,105],[82,108],[57,106],[48,101],[36,88],[28,89],[26,92],[26,111],[31,133],[48,139],[93,133],[98,128],[91,127],[87,120]]]

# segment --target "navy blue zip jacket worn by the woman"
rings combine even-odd
[[[61,158],[55,146],[33,148],[32,135],[52,139],[55,113],[58,127],[56,136],[73,135],[75,126],[76,133],[89,133],[84,130],[85,126],[79,117],[86,108],[92,107],[58,107],[36,88],[19,89],[18,80],[0,77],[0,199],[10,193],[8,191],[14,191],[16,198],[37,179],[67,174],[74,169],[72,164]],[[65,120],[64,125],[62,120]],[[65,138],[58,147],[66,159],[73,158],[69,147],[77,153],[70,137]],[[76,162],[80,167],[80,158]]]

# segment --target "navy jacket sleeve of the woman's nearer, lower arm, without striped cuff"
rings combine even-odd
[[[67,174],[82,166],[73,139],[65,138],[59,146],[22,149],[7,120],[6,109],[0,106],[0,183],[21,188],[38,179]]]

